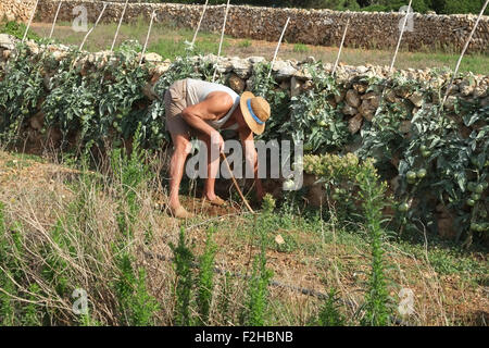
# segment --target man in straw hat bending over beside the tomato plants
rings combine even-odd
[[[237,130],[244,149],[247,164],[254,171],[256,197],[263,198],[262,183],[258,177],[258,153],[253,134],[260,135],[269,119],[269,104],[261,97],[246,91],[239,97],[233,89],[199,79],[175,82],[165,94],[166,129],[172,135],[174,152],[170,169],[170,208],[179,219],[191,217],[178,199],[185,161],[190,152],[190,138],[197,137],[208,148],[208,178],[203,198],[212,204],[223,206],[224,200],[214,192],[218,172],[218,156],[224,151],[221,129]]]

